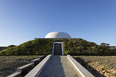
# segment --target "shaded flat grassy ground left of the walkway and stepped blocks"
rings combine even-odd
[[[14,73],[17,67],[31,62],[39,56],[0,56],[0,77],[6,77]]]

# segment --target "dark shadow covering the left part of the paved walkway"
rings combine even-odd
[[[65,77],[60,56],[51,56],[39,77]]]

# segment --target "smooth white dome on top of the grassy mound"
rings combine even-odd
[[[50,32],[45,38],[71,38],[71,36],[65,32]]]

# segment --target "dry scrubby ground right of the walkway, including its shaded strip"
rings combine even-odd
[[[96,77],[116,77],[116,56],[73,56]],[[84,62],[83,62],[84,61]],[[86,63],[85,63],[86,62]],[[90,68],[90,67],[92,68]],[[102,75],[96,72],[99,71]]]

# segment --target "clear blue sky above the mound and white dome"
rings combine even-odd
[[[116,0],[0,0],[0,46],[54,31],[116,46]]]

